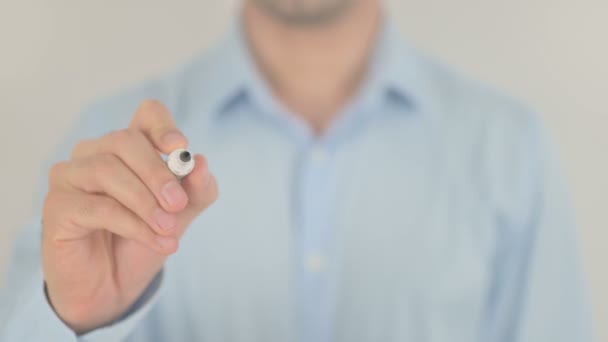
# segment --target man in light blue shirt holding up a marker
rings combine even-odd
[[[66,146],[2,341],[591,340],[538,118],[411,50],[380,0],[245,1]],[[158,152],[184,147],[205,157],[180,183]]]

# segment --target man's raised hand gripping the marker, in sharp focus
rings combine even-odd
[[[167,108],[146,101],[129,128],[80,142],[51,169],[44,276],[51,304],[76,332],[120,317],[216,200],[203,156],[181,182],[160,157],[187,144]]]

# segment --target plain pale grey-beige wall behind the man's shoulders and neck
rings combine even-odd
[[[91,100],[216,41],[238,0],[0,0],[0,283],[40,164]],[[541,111],[560,148],[608,341],[608,2],[399,0],[420,49]]]

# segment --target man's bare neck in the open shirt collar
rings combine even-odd
[[[257,67],[274,95],[322,134],[365,78],[379,29],[379,2],[358,1],[317,26],[287,24],[251,2],[243,15]]]

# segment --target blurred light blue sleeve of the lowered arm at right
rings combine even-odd
[[[569,195],[537,123],[525,146],[526,215],[502,219],[481,341],[595,341]]]

